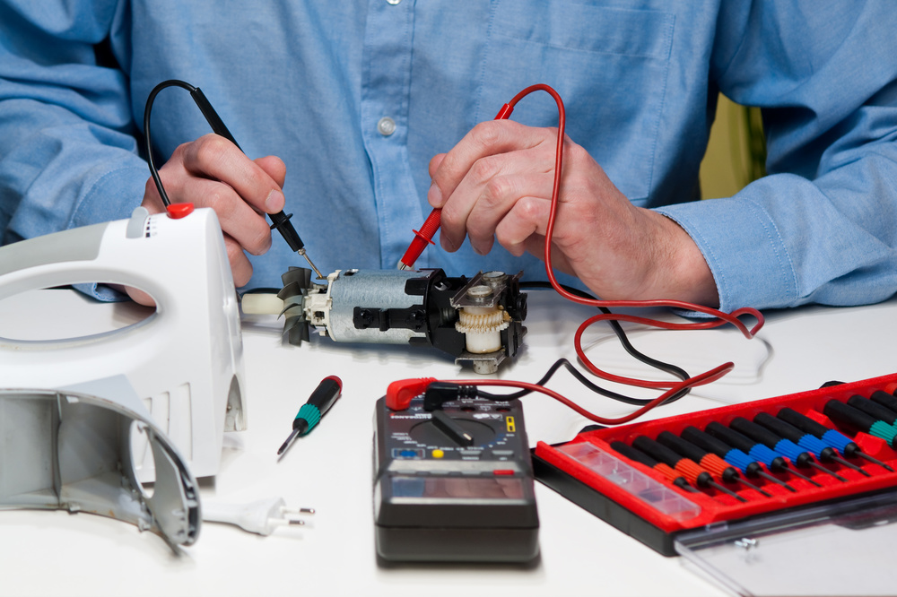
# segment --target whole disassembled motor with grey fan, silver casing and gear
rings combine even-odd
[[[477,373],[494,373],[517,354],[527,332],[521,275],[338,270],[320,284],[311,281],[310,270],[291,267],[277,298],[293,345],[307,342],[315,328],[335,342],[431,346]],[[477,342],[468,343],[471,336]]]

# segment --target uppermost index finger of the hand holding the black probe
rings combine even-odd
[[[283,210],[283,191],[277,181],[222,136],[206,134],[179,150],[191,174],[230,185],[246,203],[263,212]]]

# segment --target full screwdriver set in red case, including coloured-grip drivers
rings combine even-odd
[[[666,556],[685,535],[734,523],[780,527],[823,505],[856,514],[845,505],[897,503],[895,390],[897,374],[592,428],[540,442],[536,479]]]

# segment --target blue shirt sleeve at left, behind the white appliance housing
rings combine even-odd
[[[2,243],[124,218],[143,197],[127,77],[96,52],[118,4],[0,0]]]

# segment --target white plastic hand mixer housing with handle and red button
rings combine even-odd
[[[0,300],[89,282],[144,290],[155,312],[80,338],[0,338],[0,385],[58,388],[125,376],[191,472],[216,474],[223,432],[246,428],[246,404],[237,295],[215,213],[176,219],[140,207],[129,220],[0,248]],[[152,480],[148,446],[135,448],[138,478]]]

